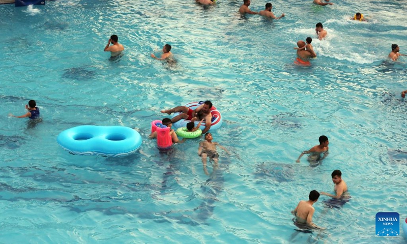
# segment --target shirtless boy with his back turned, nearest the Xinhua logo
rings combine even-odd
[[[308,201],[300,201],[292,212],[297,217],[297,224],[305,225],[313,229],[324,229],[314,223],[312,223],[312,215],[314,214],[315,208],[312,206],[316,201],[318,201],[319,193],[312,190],[309,193]]]

